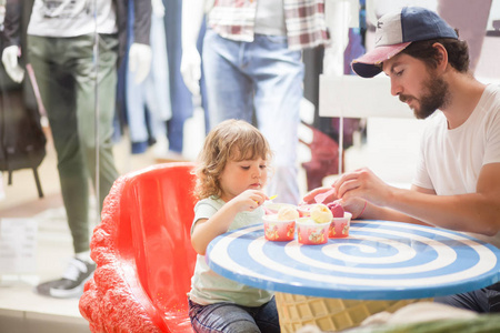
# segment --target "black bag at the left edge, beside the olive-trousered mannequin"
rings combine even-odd
[[[12,172],[32,169],[39,198],[43,192],[37,168],[46,157],[47,139],[40,123],[40,112],[34,100],[28,72],[23,83],[18,84],[0,65],[0,171]]]

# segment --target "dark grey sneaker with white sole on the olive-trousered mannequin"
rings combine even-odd
[[[57,299],[80,297],[83,293],[83,285],[92,278],[94,270],[96,263],[72,258],[61,279],[41,283],[37,285],[36,291],[39,294]]]

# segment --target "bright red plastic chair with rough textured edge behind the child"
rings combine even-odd
[[[79,302],[92,332],[193,332],[192,168],[158,164],[114,182],[90,245],[97,269]]]

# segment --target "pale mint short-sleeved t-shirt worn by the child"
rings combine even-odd
[[[194,206],[194,220],[191,232],[198,220],[209,219],[224,204],[224,201],[216,196],[199,201]],[[238,213],[228,231],[262,223],[263,214],[264,211],[261,206],[252,212]],[[241,264],[244,265],[244,263]],[[243,306],[260,306],[269,302],[273,293],[251,287],[217,274],[208,266],[204,255],[198,254],[194,274],[191,279],[191,291],[188,295],[191,301],[201,305],[229,302]]]

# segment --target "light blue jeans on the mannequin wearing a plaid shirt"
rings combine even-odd
[[[207,29],[202,58],[210,125],[232,118],[251,123],[256,112],[257,125],[274,152],[267,192],[278,194],[280,202],[297,204],[301,51],[289,50],[281,36],[257,34],[253,42],[240,42]]]

